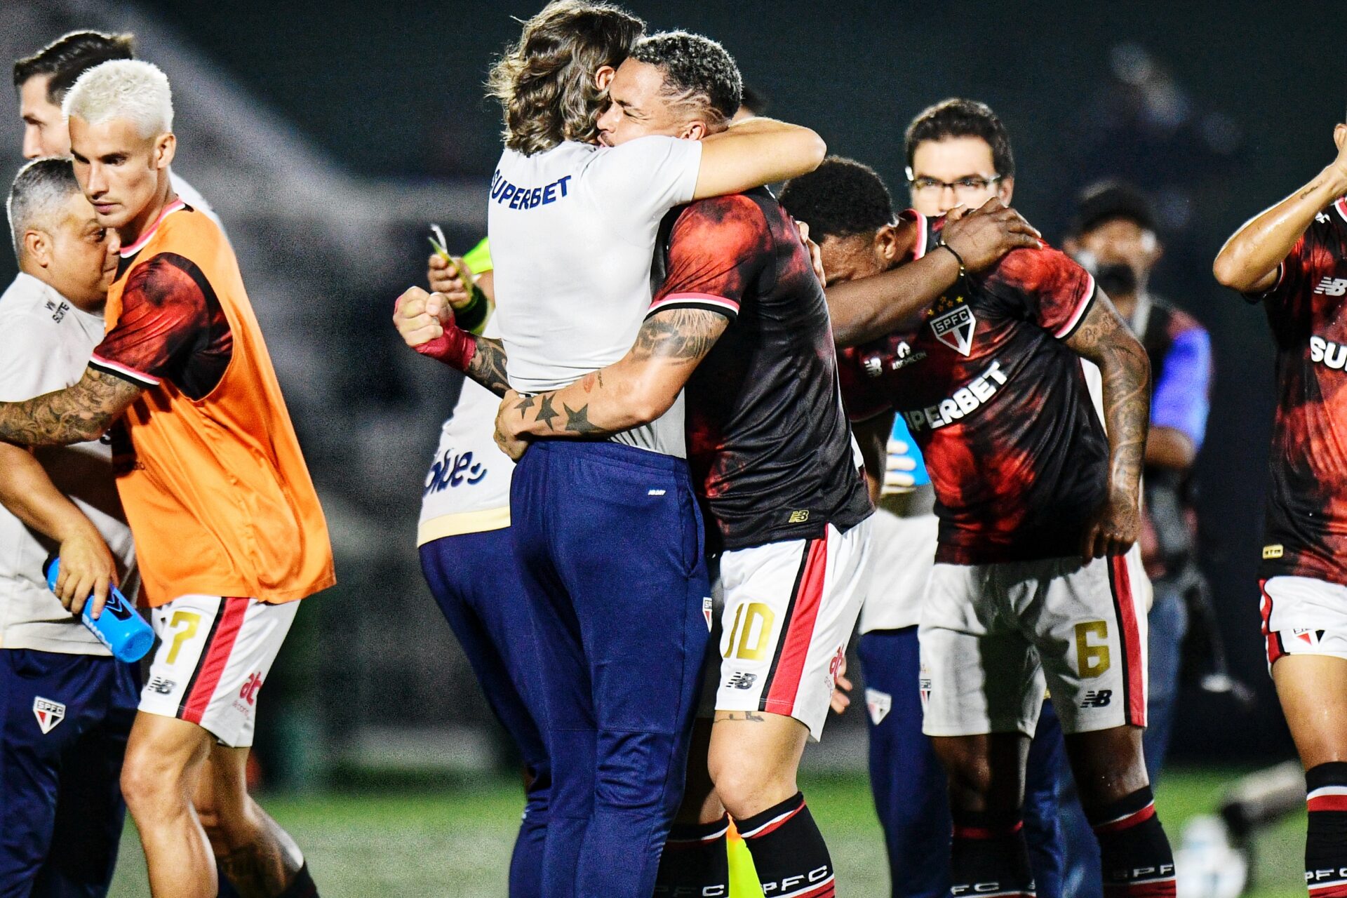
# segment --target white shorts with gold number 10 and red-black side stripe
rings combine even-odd
[[[870,518],[721,555],[717,711],[791,716],[819,739],[865,596],[869,536]]]

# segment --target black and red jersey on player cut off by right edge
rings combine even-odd
[[[1315,217],[1251,299],[1277,350],[1262,576],[1347,584],[1347,201]]]

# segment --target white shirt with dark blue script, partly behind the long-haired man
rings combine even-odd
[[[498,337],[492,316],[482,337]],[[426,474],[416,545],[445,536],[509,526],[509,479],[515,462],[496,446],[496,409],[501,400],[467,377],[458,404],[439,431],[439,446]]]

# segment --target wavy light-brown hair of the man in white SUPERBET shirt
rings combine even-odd
[[[625,9],[590,0],[555,0],[525,22],[486,79],[505,113],[505,147],[532,156],[598,136],[607,92],[594,73],[621,65],[644,31]]]

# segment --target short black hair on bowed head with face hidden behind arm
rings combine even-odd
[[[870,234],[893,223],[893,197],[880,174],[842,156],[828,156],[810,174],[788,180],[781,206],[819,241]]]

